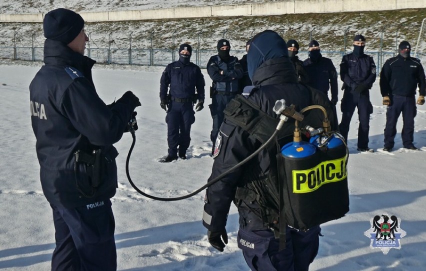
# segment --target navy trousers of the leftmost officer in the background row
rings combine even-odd
[[[195,122],[192,101],[170,101],[165,122],[167,123],[168,154],[173,157],[176,157],[177,153],[179,156],[184,156],[191,141],[191,125]]]

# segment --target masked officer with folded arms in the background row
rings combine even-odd
[[[217,54],[211,56],[207,62],[207,72],[213,81],[210,87],[211,104],[208,105],[213,119],[210,132],[210,140],[212,142],[211,155],[215,151],[216,137],[223,121],[223,109],[239,93],[238,79],[243,75],[238,58],[229,55],[229,51],[229,40],[220,39],[217,42]]]

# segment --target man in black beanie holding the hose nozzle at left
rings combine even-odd
[[[116,270],[114,216],[118,155],[139,99],[125,92],[106,105],[84,56],[83,18],[69,9],[43,19],[44,66],[29,85],[40,181],[53,211],[52,270]]]

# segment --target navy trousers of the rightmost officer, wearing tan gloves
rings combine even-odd
[[[414,117],[417,114],[415,96],[393,95],[391,105],[386,108],[386,126],[384,127],[384,147],[393,148],[396,135],[396,123],[402,112],[402,144],[406,148],[413,145],[414,140]]]

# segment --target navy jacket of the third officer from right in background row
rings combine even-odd
[[[318,61],[313,62],[307,58],[303,65],[310,79],[308,85],[326,95],[331,87],[331,99],[337,101],[337,72],[331,59],[321,56]]]

